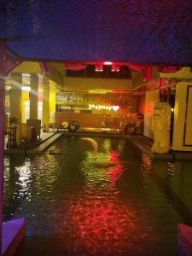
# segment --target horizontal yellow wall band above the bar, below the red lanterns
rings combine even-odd
[[[70,90],[131,90],[131,79],[63,79],[63,88]]]

